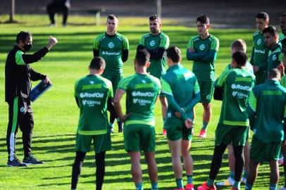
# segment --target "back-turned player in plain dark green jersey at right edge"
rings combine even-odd
[[[286,132],[286,89],[280,85],[280,78],[280,70],[269,70],[268,80],[251,91],[248,113],[254,136],[250,148],[249,175],[245,185],[248,190],[252,189],[259,164],[263,162],[269,163],[271,168],[269,189],[277,189],[278,159],[281,145],[285,146]]]

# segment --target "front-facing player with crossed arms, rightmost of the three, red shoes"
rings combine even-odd
[[[214,63],[219,46],[218,39],[209,34],[210,27],[209,17],[200,15],[197,18],[199,36],[192,37],[187,46],[187,60],[194,61],[192,71],[199,82],[201,103],[204,106],[203,127],[199,133],[199,137],[202,138],[206,137],[206,129],[211,119],[211,97],[215,80]]]

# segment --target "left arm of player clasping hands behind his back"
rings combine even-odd
[[[178,103],[175,101],[172,89],[170,87],[170,84],[161,78],[161,85],[162,85],[162,93],[166,96],[168,100],[168,106],[176,113],[180,113],[182,116],[182,119],[185,121],[187,120],[187,115],[184,110],[181,109],[181,107],[178,105]]]

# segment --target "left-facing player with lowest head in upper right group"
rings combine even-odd
[[[279,43],[278,30],[276,27],[266,27],[263,30],[265,44],[270,48],[268,60],[266,63],[259,65],[258,70],[267,68],[268,72],[273,68],[278,68],[282,64],[282,47]],[[254,72],[255,72],[254,68]]]

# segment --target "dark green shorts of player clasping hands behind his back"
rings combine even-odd
[[[183,139],[186,141],[192,140],[192,129],[187,129],[182,120],[174,121],[172,118],[167,118],[164,128],[167,131],[167,138],[170,141]]]

